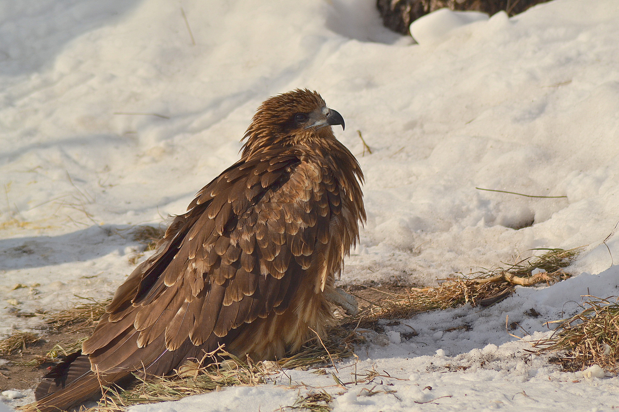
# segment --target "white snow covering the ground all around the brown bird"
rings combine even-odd
[[[342,282],[432,284],[531,248],[586,245],[572,279],[519,288],[485,310],[415,316],[405,323],[418,336],[359,348],[358,371],[405,380],[327,388],[340,393],[335,411],[619,406],[619,377],[559,372],[504,328],[509,315],[539,337],[581,295],[619,294],[619,238],[606,241],[610,254],[602,243],[619,221],[617,2],[555,0],[426,30],[421,44],[383,28],[373,4],[0,2],[0,334],[40,327],[15,308],[112,292],[139,247],[126,229],[183,212],[238,158],[258,104],[308,87],[344,116],[335,133],[366,175],[368,224]],[[372,154],[361,155],[357,130]],[[542,316],[527,317],[530,308]],[[471,330],[444,332],[464,324]],[[338,366],[344,382],[350,365]],[[334,384],[286,373],[277,385],[132,411],[264,412],[297,397],[280,384]],[[360,395],[374,384],[397,392]]]

